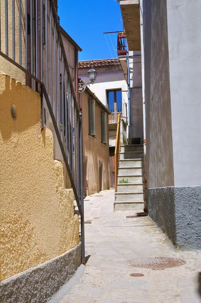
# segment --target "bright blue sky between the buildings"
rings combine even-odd
[[[117,34],[103,34],[122,30],[116,0],[58,0],[58,7],[61,26],[82,48],[79,60],[117,58]]]

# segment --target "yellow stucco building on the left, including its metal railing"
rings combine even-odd
[[[84,263],[78,48],[54,1],[20,5],[0,21],[0,301],[43,303]]]

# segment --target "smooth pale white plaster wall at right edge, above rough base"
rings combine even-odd
[[[201,183],[200,0],[167,0],[175,186]]]

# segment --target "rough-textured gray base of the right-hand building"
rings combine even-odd
[[[183,249],[201,249],[201,186],[149,188],[149,216]]]

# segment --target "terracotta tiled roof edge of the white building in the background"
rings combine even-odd
[[[119,58],[116,59],[102,59],[102,60],[88,60],[79,61],[78,68],[90,68],[90,67],[118,67],[118,70],[122,70]]]

